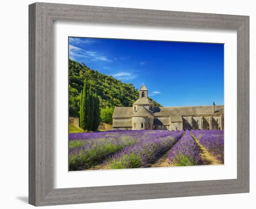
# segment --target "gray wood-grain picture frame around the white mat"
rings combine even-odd
[[[237,32],[237,178],[53,189],[54,20]],[[35,206],[249,192],[249,17],[115,7],[29,5],[29,203]]]

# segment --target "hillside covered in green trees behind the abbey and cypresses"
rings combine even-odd
[[[109,123],[110,118],[106,117],[106,111],[114,110],[115,106],[129,107],[139,98],[139,93],[133,84],[126,84],[104,75],[100,72],[88,68],[85,64],[80,64],[69,59],[69,116],[80,117],[80,95],[84,86],[84,80],[88,82],[92,93],[95,93],[100,101],[101,120]],[[153,99],[150,100],[155,106],[161,106]]]

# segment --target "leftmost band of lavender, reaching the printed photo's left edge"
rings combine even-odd
[[[126,147],[162,140],[177,131],[109,131],[69,135],[69,170],[85,170],[102,163]],[[152,143],[153,144],[153,143]],[[153,145],[154,146],[154,145]]]

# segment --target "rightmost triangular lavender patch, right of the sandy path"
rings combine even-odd
[[[222,130],[192,130],[191,133],[198,139],[211,154],[224,163],[224,131]]]

